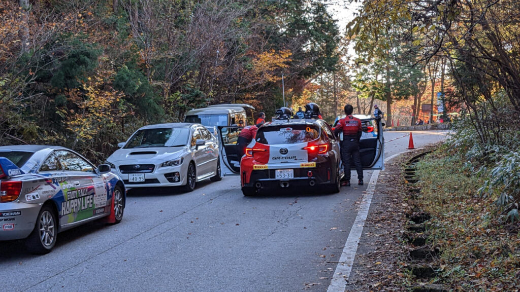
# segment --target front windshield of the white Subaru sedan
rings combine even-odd
[[[135,132],[124,148],[180,147],[188,143],[189,135],[189,128],[143,129]]]

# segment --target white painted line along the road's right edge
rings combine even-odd
[[[385,159],[385,163],[401,153],[403,152],[387,157]],[[361,206],[356,216],[356,220],[352,225],[352,229],[350,229],[347,242],[345,243],[345,247],[341,253],[340,262],[337,264],[336,270],[334,271],[334,276],[332,276],[332,280],[330,281],[327,292],[345,292],[345,287],[348,283],[348,277],[350,276],[350,272],[352,271],[352,266],[354,264],[354,259],[356,258],[359,240],[361,239],[361,234],[363,233],[363,227],[365,227],[365,220],[367,220],[370,203],[372,202],[372,196],[375,190],[375,184],[378,182],[379,171],[380,170],[374,170],[372,176],[370,177],[367,192],[363,197]]]

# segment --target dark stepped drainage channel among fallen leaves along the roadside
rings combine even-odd
[[[417,185],[420,178],[417,176],[416,164],[429,151],[421,153],[412,157],[405,166],[403,171],[405,183],[408,185],[408,195],[412,202],[420,200],[421,189]],[[408,259],[409,264],[407,269],[412,275],[420,280],[428,280],[437,276],[440,271],[434,262],[441,250],[437,247],[428,245],[428,220],[432,217],[430,214],[420,210],[417,204],[413,204],[413,208],[406,214],[408,218],[407,231],[404,233],[405,240],[407,240],[411,249],[409,250]],[[426,284],[412,288],[413,292],[447,292],[448,289],[443,285]]]

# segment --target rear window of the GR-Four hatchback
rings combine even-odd
[[[280,125],[259,128],[256,141],[262,144],[296,144],[315,140],[319,129],[314,125]]]

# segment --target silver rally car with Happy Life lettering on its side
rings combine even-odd
[[[60,231],[100,218],[119,223],[125,188],[110,170],[63,147],[0,147],[0,240],[27,238],[29,251],[45,254]]]

